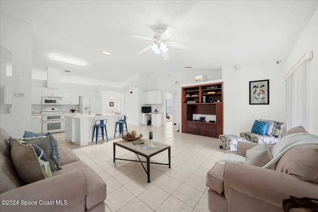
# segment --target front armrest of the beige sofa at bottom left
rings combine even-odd
[[[82,202],[84,207],[85,195],[87,194],[86,184],[86,178],[82,170],[30,183],[1,193],[1,203],[4,200],[18,201],[19,203],[18,205],[1,204],[1,211],[61,212],[68,211],[67,208],[78,202]],[[33,205],[22,205],[25,203],[32,203]],[[48,205],[44,205],[45,203]]]

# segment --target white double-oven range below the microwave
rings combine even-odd
[[[65,130],[64,115],[61,107],[42,108],[43,133],[60,133]]]

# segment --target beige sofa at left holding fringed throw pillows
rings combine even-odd
[[[24,185],[11,162],[9,135],[0,130],[1,212],[105,211],[106,183],[69,148],[59,149],[62,169]]]

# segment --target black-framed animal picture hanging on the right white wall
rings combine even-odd
[[[249,104],[269,105],[269,79],[249,81]]]

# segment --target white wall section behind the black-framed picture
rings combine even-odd
[[[223,66],[224,134],[250,132],[254,120],[286,120],[283,65]],[[269,79],[269,105],[249,105],[249,81]]]

